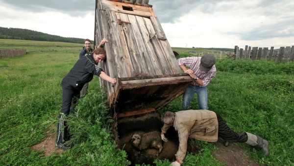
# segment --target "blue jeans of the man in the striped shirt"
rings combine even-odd
[[[183,95],[183,110],[187,110],[191,105],[195,93],[197,93],[198,96],[199,109],[208,109],[206,86],[194,86],[189,84]]]

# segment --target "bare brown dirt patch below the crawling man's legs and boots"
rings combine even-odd
[[[243,148],[231,144],[228,147],[218,143],[218,150],[213,152],[213,155],[226,166],[259,166],[256,162],[249,159],[244,153]]]

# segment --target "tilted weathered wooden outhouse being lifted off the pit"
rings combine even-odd
[[[162,108],[193,81],[178,66],[151,5],[96,0],[95,16],[95,45],[103,38],[108,40],[107,59],[100,65],[118,80],[114,86],[105,81],[100,84],[118,118]]]

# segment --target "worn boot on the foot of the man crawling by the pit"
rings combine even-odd
[[[246,144],[261,148],[264,152],[264,155],[269,156],[269,142],[267,140],[264,140],[260,136],[256,136],[251,133],[246,132],[246,134],[248,136]]]

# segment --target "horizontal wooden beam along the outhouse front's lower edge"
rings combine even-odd
[[[188,83],[188,82],[192,82],[193,80],[194,79],[192,79],[190,76],[146,79],[146,80],[132,80],[132,81],[122,81],[121,87],[122,89],[134,89],[134,88],[141,88],[145,86]]]

